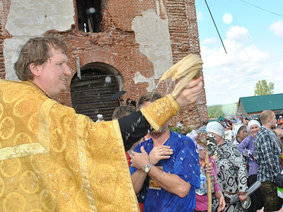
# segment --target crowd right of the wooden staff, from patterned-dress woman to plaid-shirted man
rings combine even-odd
[[[224,119],[204,123],[198,130],[199,133],[213,133],[221,150],[216,158],[216,170],[226,201],[224,211],[263,211],[262,207],[265,211],[283,210],[280,189],[283,129],[277,123],[279,120],[275,113],[265,110],[260,114],[260,119],[242,117],[239,122]],[[247,188],[256,181],[261,182],[261,186],[248,197]],[[231,200],[237,196],[240,202],[251,202],[248,209],[244,209],[241,204],[231,205]],[[217,209],[218,201],[215,197],[213,206]]]

